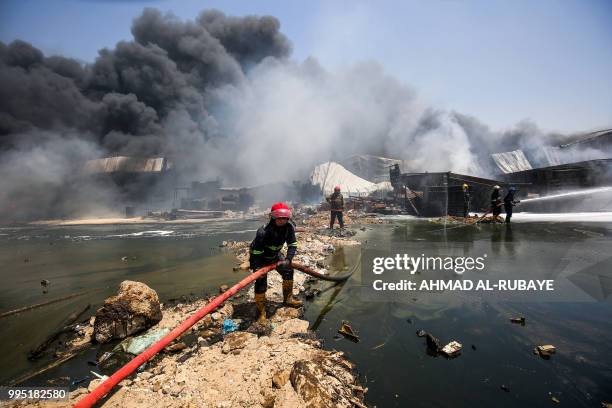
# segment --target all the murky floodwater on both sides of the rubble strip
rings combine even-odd
[[[612,223],[523,221],[511,228],[445,229],[396,218],[359,231],[356,238],[365,248],[425,245],[487,253],[487,277],[559,282],[559,292],[541,298],[512,292],[437,292],[396,294],[382,301],[364,295],[359,271],[344,285],[318,283],[322,293],[307,304],[306,317],[325,340],[324,347],[343,350],[357,363],[369,388],[369,404],[537,407],[554,404],[554,396],[563,406],[587,407],[612,399]],[[147,283],[162,300],[200,295],[237,281],[233,256],[218,245],[227,239],[251,239],[260,223],[0,230],[0,312],[93,290],[2,319],[0,382],[32,369],[25,356],[33,345],[70,313],[113,294],[124,279]],[[360,260],[359,248],[341,248],[331,258],[332,270],[361,268]],[[41,279],[50,281],[47,294],[42,293]],[[527,324],[510,323],[515,315],[524,315]],[[337,338],[342,320],[358,331],[359,343]],[[443,343],[461,342],[462,355],[449,360],[428,354],[424,339],[415,334],[419,329]],[[550,360],[532,353],[534,345],[546,343],[558,350]],[[52,375],[80,378],[88,374],[86,361],[94,356],[95,351],[85,352]]]

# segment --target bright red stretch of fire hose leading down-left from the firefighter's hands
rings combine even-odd
[[[178,336],[189,330],[191,326],[193,326],[200,319],[204,318],[204,316],[215,310],[227,299],[238,293],[240,289],[244,288],[249,283],[253,282],[254,280],[262,277],[266,273],[276,268],[276,265],[277,264],[264,266],[263,268],[257,270],[256,272],[253,272],[252,274],[229,288],[227,291],[223,292],[220,296],[214,298],[210,303],[195,312],[193,315],[191,315],[190,318],[185,320],[179,326],[175,327],[174,330],[172,330],[170,333],[166,334],[157,343],[154,343],[149,346],[148,349],[134,357],[132,360],[130,360],[130,362],[128,362],[126,365],[117,370],[113,375],[111,375],[104,382],[102,382],[102,384],[98,385],[95,390],[87,394],[85,397],[81,398],[74,405],[74,408],[92,407],[100,398],[108,394],[108,392],[115,385],[119,384],[125,377],[137,370],[138,367],[153,358],[155,354],[159,353],[164,347],[170,344],[172,340],[176,339]]]

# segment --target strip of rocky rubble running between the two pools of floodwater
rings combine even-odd
[[[354,232],[329,231],[328,214],[298,219],[299,251],[295,261],[326,274],[327,257],[343,245],[358,245]],[[348,218],[348,217],[347,217]],[[350,218],[349,218],[350,219]],[[378,223],[354,216],[353,222]],[[352,228],[358,228],[353,225]],[[238,259],[235,270],[248,269],[249,242],[223,242]],[[242,277],[242,275],[241,275]],[[240,277],[236,277],[236,281]],[[230,282],[233,283],[233,282]],[[296,271],[294,294],[317,295],[313,278]],[[222,285],[219,292],[228,289]],[[64,343],[65,353],[92,342],[108,343],[90,362],[92,378],[110,375],[196,310],[205,299],[183,297],[161,304],[155,291],[139,282],[125,281],[96,316]],[[360,386],[354,365],[342,352],[322,348],[303,320],[303,308],[282,306],[282,280],[268,275],[268,324],[255,321],[253,286],[209,314],[167,346],[136,374],[123,380],[104,401],[108,407],[365,407],[367,389]],[[119,340],[122,340],[118,344]],[[111,348],[112,347],[112,348]],[[132,353],[130,353],[130,351]],[[70,393],[73,404],[103,379]],[[74,384],[73,384],[74,385]],[[63,403],[67,405],[67,403]],[[60,406],[62,404],[59,404]],[[21,405],[23,406],[23,405]],[[32,403],[31,406],[58,406]]]

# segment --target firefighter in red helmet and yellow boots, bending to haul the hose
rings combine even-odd
[[[287,255],[283,257],[280,250],[287,244]],[[281,262],[276,270],[283,277],[283,304],[300,307],[302,302],[293,297],[293,268],[291,261],[297,252],[295,224],[291,221],[291,210],[285,203],[276,203],[270,211],[270,221],[257,230],[251,242],[249,267],[253,271],[275,262]],[[267,275],[255,281],[255,305],[257,321],[266,321]]]

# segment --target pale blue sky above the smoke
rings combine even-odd
[[[432,105],[494,129],[522,119],[562,132],[612,127],[610,0],[0,0],[0,41],[92,62],[131,39],[145,6],[182,19],[208,8],[274,15],[293,58],[376,60]]]

